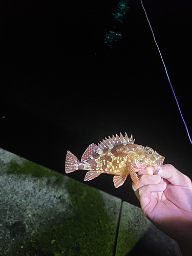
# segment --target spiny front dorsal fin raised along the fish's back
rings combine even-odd
[[[116,134],[116,137],[113,135],[112,137],[109,136],[109,138],[105,138],[105,140],[101,141],[97,146],[97,152],[106,150],[108,148],[113,148],[114,146],[120,145],[120,144],[134,144],[135,139],[133,139],[133,136],[129,138],[127,134],[125,133],[125,136],[120,133],[120,136]]]

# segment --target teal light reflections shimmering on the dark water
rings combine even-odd
[[[113,19],[117,24],[123,22],[124,15],[130,9],[130,2],[131,0],[120,0],[117,4],[117,9],[112,11]],[[123,38],[120,31],[115,31],[115,27],[113,27],[113,30],[105,29],[104,41],[111,49],[116,48],[116,42]]]

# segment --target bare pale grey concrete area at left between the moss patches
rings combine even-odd
[[[22,245],[41,230],[73,214],[65,183],[57,189],[51,184],[47,186],[47,181],[47,177],[27,175],[5,174],[0,177],[2,253],[9,252],[17,244]],[[54,177],[51,183],[54,183]]]

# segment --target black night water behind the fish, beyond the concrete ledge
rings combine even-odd
[[[191,3],[144,1],[191,135]],[[133,134],[190,178],[191,144],[140,1],[6,1],[0,146],[65,174],[66,151]],[[85,172],[70,177],[83,181]],[[138,205],[131,180],[87,184]]]

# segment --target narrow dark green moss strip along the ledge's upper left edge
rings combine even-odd
[[[38,165],[28,160],[25,160],[22,165],[19,165],[15,161],[11,161],[8,166],[8,174],[31,174],[34,177],[55,176],[55,184],[60,185],[63,182],[62,174],[54,172],[54,170]]]

